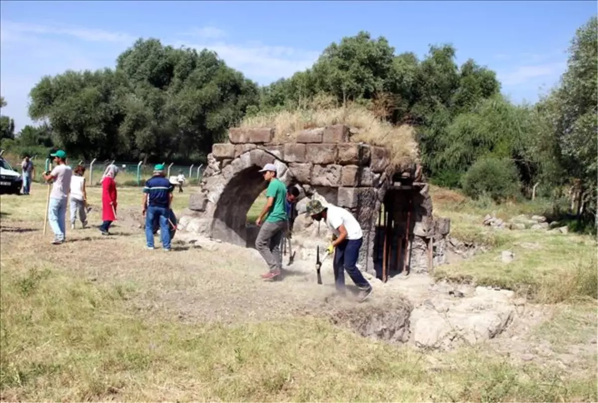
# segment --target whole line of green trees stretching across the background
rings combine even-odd
[[[43,77],[29,106],[42,124],[15,135],[3,116],[2,146],[53,144],[86,159],[197,161],[245,115],[309,108],[324,94],[415,126],[437,184],[504,200],[575,182],[578,206],[587,201],[588,211],[598,197],[597,53],[592,17],[577,30],[557,86],[533,105],[515,105],[494,71],[472,59],[457,65],[452,45],[432,45],[419,59],[359,32],[329,45],[306,71],[259,87],[212,51],[139,39],[114,69]]]

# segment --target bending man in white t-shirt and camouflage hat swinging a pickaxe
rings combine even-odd
[[[306,215],[316,221],[324,219],[327,227],[336,236],[336,239],[328,246],[328,253],[332,254],[336,249],[333,266],[334,280],[338,291],[344,292],[344,271],[346,270],[353,283],[359,288],[359,302],[364,301],[370,296],[372,286],[356,265],[363,237],[359,222],[348,210],[332,204],[322,206],[319,200],[311,200],[307,203]]]

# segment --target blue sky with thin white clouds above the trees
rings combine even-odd
[[[268,84],[359,30],[385,36],[396,53],[423,56],[429,44],[451,43],[458,63],[475,59],[498,73],[512,100],[533,102],[565,71],[575,30],[597,13],[597,1],[2,1],[2,114],[19,130],[43,75],[114,67],[139,37],[210,48]]]

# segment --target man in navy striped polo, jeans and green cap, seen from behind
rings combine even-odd
[[[154,176],[145,182],[144,187],[144,216],[145,216],[145,240],[147,249],[154,249],[153,223],[157,220],[160,223],[160,240],[162,248],[170,252],[170,231],[168,218],[170,216],[170,204],[172,203],[172,191],[174,186],[164,175],[164,165],[157,164],[154,167]]]

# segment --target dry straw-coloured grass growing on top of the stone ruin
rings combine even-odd
[[[364,106],[349,103],[347,106],[312,106],[306,109],[260,113],[245,117],[241,127],[274,127],[276,140],[294,141],[294,134],[304,129],[315,129],[332,124],[356,127],[359,133],[351,136],[353,142],[385,146],[390,149],[392,162],[401,164],[418,157],[415,130],[408,125],[393,126],[381,120]]]

